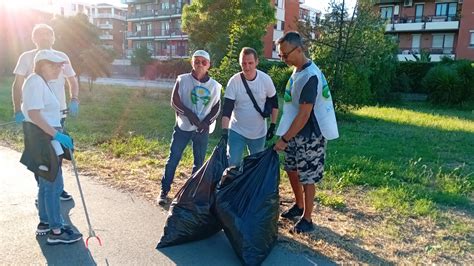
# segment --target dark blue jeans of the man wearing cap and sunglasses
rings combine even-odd
[[[171,189],[176,167],[178,167],[183,151],[190,140],[193,143],[193,173],[199,170],[204,163],[207,144],[209,142],[209,132],[198,133],[196,131],[183,131],[176,125],[171,139],[170,157],[166,162],[165,174],[161,179],[161,190],[165,193],[168,193]]]

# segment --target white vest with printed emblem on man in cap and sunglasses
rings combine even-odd
[[[179,75],[177,78],[178,92],[184,106],[191,109],[193,113],[202,121],[216,103],[220,101],[222,85],[212,78],[201,83],[196,80],[191,73]],[[197,126],[192,125],[184,115],[176,117],[178,127],[184,131],[194,131]],[[209,133],[214,131],[216,121],[209,126]]]

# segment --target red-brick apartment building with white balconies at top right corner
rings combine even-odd
[[[474,60],[473,0],[374,0],[387,20],[386,33],[399,43],[398,59],[415,60],[428,52],[442,57]]]

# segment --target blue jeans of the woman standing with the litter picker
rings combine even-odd
[[[38,188],[38,213],[40,222],[49,223],[49,228],[57,229],[63,227],[63,217],[61,216],[61,204],[59,196],[63,192],[63,173],[61,163],[56,179],[50,182],[43,177],[39,177]]]

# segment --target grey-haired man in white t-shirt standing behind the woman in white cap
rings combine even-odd
[[[53,51],[57,56],[64,59],[67,64],[61,69],[57,78],[48,82],[49,87],[53,90],[54,95],[59,101],[61,110],[61,125],[64,129],[64,120],[66,118],[67,105],[66,105],[66,93],[65,93],[65,80],[67,80],[70,88],[69,103],[69,114],[76,116],[79,113],[79,85],[76,79],[76,72],[72,68],[69,57],[60,51],[52,49],[55,41],[53,29],[46,24],[37,24],[33,28],[31,39],[36,45],[36,49],[24,52],[18,58],[13,74],[15,74],[15,80],[12,86],[12,99],[13,99],[13,111],[15,112],[15,121],[21,123],[24,120],[23,113],[20,110],[22,102],[22,86],[25,79],[33,73],[34,58],[39,50],[49,49]],[[36,180],[38,178],[35,176]],[[71,200],[72,197],[66,191],[61,194],[61,200]]]

